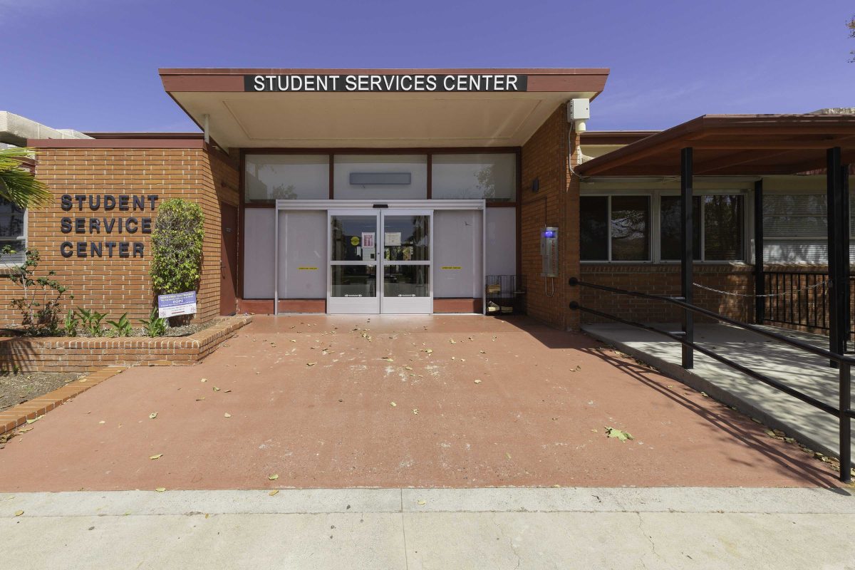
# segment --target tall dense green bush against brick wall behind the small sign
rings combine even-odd
[[[151,235],[151,285],[158,295],[196,291],[202,275],[205,216],[197,203],[166,200]]]

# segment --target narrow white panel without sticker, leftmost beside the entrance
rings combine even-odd
[[[247,208],[244,212],[244,298],[272,299],[276,210]]]

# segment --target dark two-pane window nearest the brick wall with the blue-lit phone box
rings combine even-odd
[[[582,261],[649,261],[649,196],[580,199]]]

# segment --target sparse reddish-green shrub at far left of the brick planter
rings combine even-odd
[[[9,245],[3,247],[3,254],[13,254]],[[59,332],[59,310],[62,296],[68,289],[59,281],[52,279],[55,271],[36,277],[36,268],[41,256],[38,250],[27,250],[24,262],[12,268],[6,277],[21,287],[23,297],[12,299],[12,306],[21,312],[21,325],[24,332],[31,335],[56,335]],[[69,296],[74,299],[74,295]]]

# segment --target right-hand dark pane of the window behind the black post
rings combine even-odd
[[[705,196],[705,261],[737,261],[743,259],[743,225],[741,196]]]

